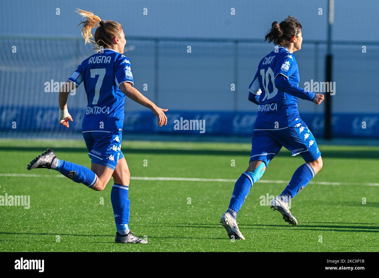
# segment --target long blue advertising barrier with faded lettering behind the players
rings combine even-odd
[[[14,123],[17,131],[78,133],[85,108],[69,110],[74,122],[67,130],[58,123],[56,107],[9,107],[0,106],[0,131],[12,131]],[[128,133],[174,133],[174,134],[212,134],[212,135],[249,135],[254,130],[255,112],[226,111],[168,111],[168,123],[158,127],[157,118],[151,111],[125,112],[124,132]],[[316,113],[302,113],[314,136],[323,136],[324,116]],[[334,137],[379,138],[379,114],[338,113],[332,117]],[[52,137],[54,134],[52,134]]]

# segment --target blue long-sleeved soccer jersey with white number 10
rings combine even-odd
[[[285,78],[294,87],[287,93],[276,86],[276,77]],[[275,81],[274,81],[275,80]],[[298,97],[313,100],[315,93],[298,87],[300,78],[295,56],[285,47],[277,48],[263,58],[249,86],[249,92],[258,99],[258,114],[254,129],[293,127],[301,122]],[[291,94],[288,93],[291,90]],[[250,98],[249,98],[250,99]]]

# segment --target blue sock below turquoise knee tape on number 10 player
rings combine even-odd
[[[253,186],[254,181],[250,173],[242,173],[234,185],[233,195],[230,199],[229,208],[227,210],[234,219],[237,219],[237,213],[243,205],[243,202],[246,200],[250,188]]]

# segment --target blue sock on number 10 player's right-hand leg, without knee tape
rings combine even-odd
[[[280,196],[284,197],[284,200],[288,201],[295,197],[304,187],[309,183],[310,180],[315,176],[315,170],[308,163],[301,165],[293,173],[290,183],[283,190]]]

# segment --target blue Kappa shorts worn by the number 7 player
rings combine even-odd
[[[83,131],[88,156],[92,163],[100,164],[112,170],[117,161],[124,157],[121,151],[122,132]]]

